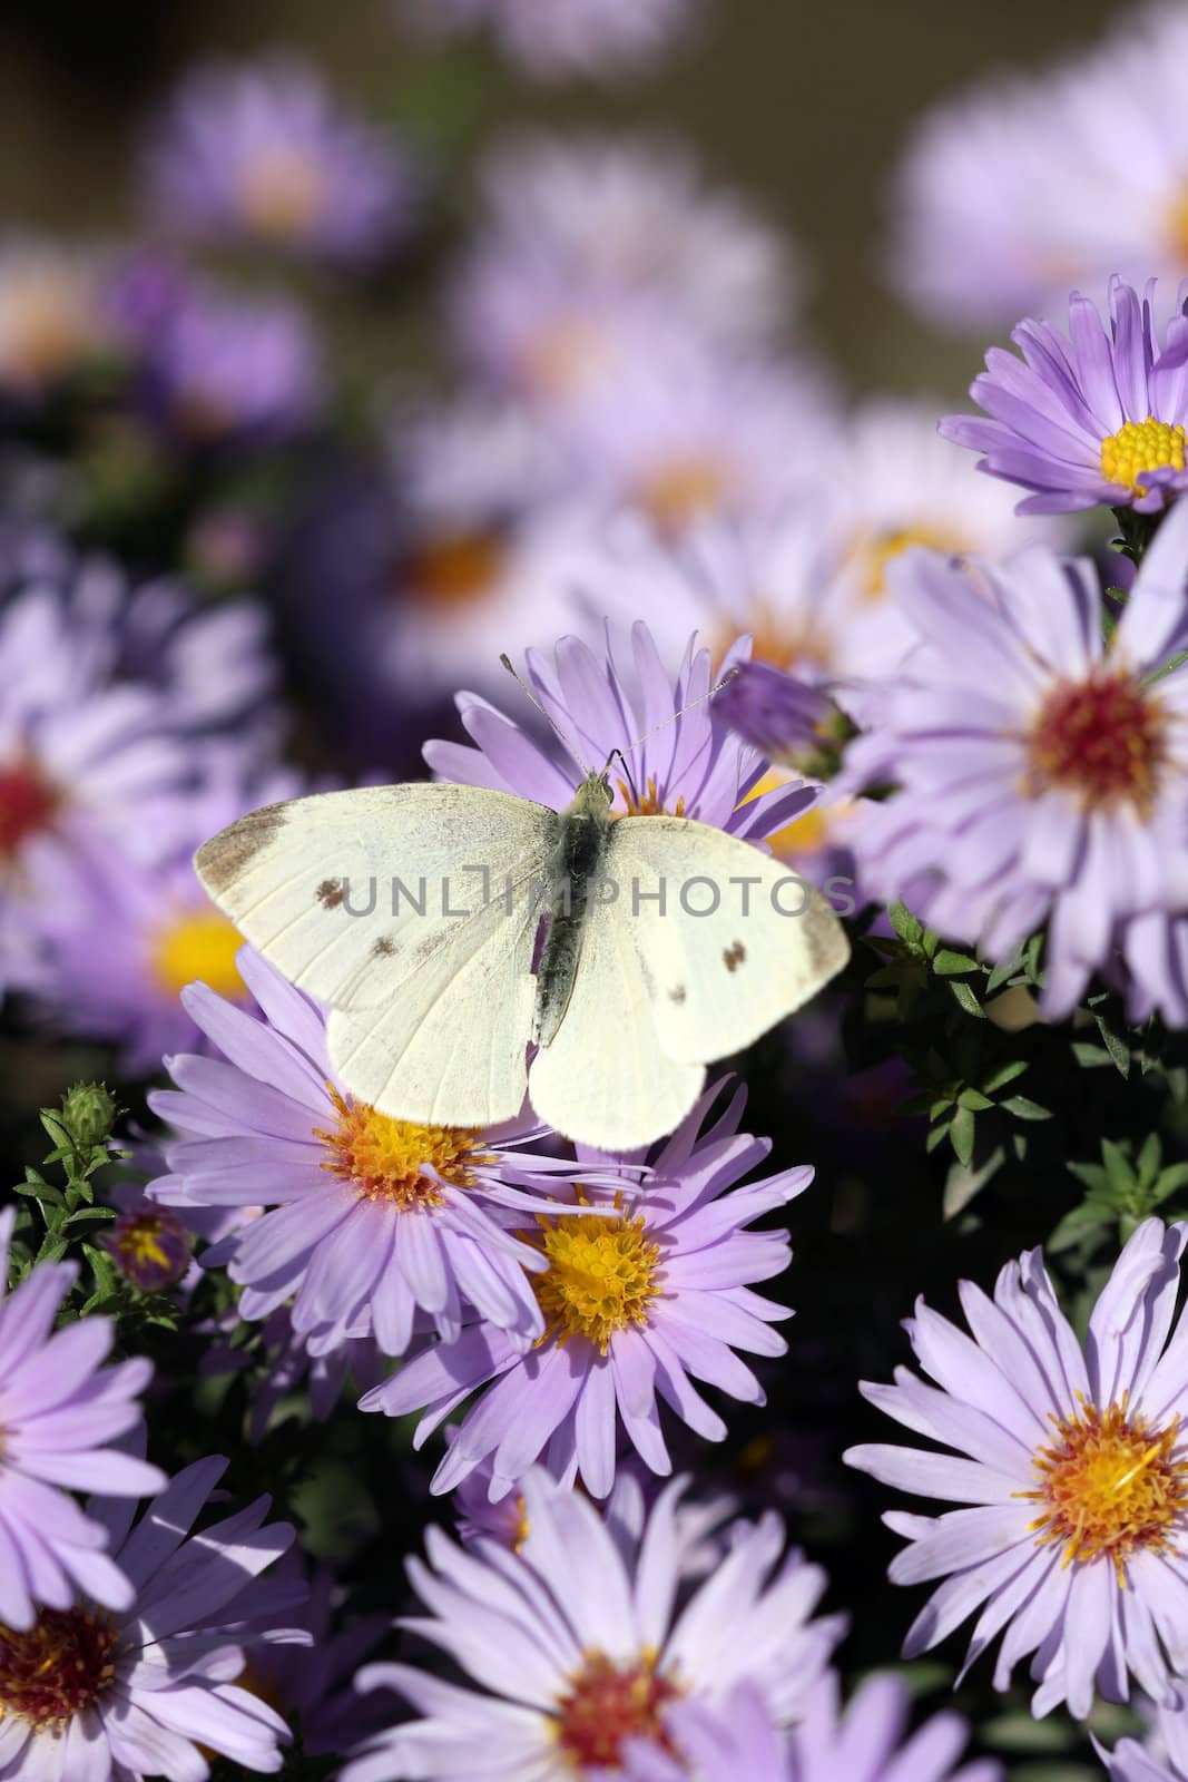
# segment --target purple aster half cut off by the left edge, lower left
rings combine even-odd
[[[141,1497],[166,1481],[109,1445],[141,1426],[137,1399],[151,1365],[137,1358],[102,1367],[114,1335],[109,1319],[53,1331],[78,1276],[73,1262],[43,1262],[4,1296],[14,1224],[11,1206],[0,1212],[0,1622],[25,1632],[36,1604],[66,1609],[75,1588],[110,1609],[132,1598],[125,1572],[103,1552],[103,1525],[66,1493]]]

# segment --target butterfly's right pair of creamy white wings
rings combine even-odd
[[[590,903],[574,991],[529,1096],[566,1137],[620,1151],[671,1132],[705,1064],[809,1001],[850,944],[818,891],[705,823],[620,818],[602,877],[618,895]]]

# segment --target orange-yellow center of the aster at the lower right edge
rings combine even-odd
[[[1031,1529],[1040,1545],[1063,1545],[1065,1565],[1106,1554],[1124,1586],[1129,1556],[1161,1552],[1188,1509],[1188,1459],[1172,1458],[1179,1418],[1152,1429],[1127,1415],[1124,1397],[1104,1411],[1081,1399],[1074,1417],[1053,1422],[1056,1438],[1035,1456],[1040,1484],[1019,1493],[1042,1506]]]

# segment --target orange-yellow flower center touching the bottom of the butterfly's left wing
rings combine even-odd
[[[388,1201],[401,1212],[440,1206],[443,1181],[465,1189],[474,1181],[472,1165],[490,1162],[476,1146],[477,1126],[417,1126],[378,1114],[365,1101],[346,1101],[333,1087],[330,1098],[338,1126],[313,1130],[331,1153],[322,1169],[347,1181],[360,1199]]]

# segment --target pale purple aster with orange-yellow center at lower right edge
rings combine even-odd
[[[889,1515],[908,1547],[898,1584],[942,1579],[905,1654],[978,1613],[967,1664],[996,1634],[994,1686],[1031,1655],[1033,1713],[1127,1675],[1156,1702],[1188,1670],[1188,1326],[1172,1331],[1188,1226],[1143,1221],[1097,1297],[1085,1349],[1038,1249],[1001,1271],[994,1297],[962,1281],[971,1336],[917,1303],[907,1331],[935,1385],[907,1369],[864,1385],[873,1404],[953,1452],[869,1443],[846,1459],[883,1484],[974,1508]]]

